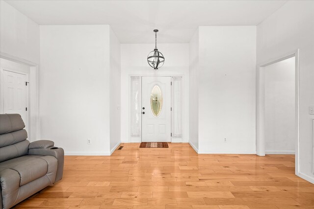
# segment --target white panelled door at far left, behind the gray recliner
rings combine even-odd
[[[26,124],[26,75],[3,70],[3,113],[17,113]]]

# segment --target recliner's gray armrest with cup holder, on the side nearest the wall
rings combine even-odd
[[[48,141],[48,140],[43,140],[43,141]],[[55,157],[58,161],[55,182],[62,179],[63,164],[64,164],[64,150],[62,148],[53,147],[53,146],[48,147],[48,148],[29,148],[28,155],[43,155],[43,156],[50,155],[50,156]]]

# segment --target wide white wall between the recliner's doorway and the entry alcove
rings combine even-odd
[[[109,155],[109,25],[41,25],[40,51],[42,138]]]

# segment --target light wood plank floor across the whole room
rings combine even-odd
[[[314,208],[314,185],[294,175],[292,155],[198,155],[187,143],[112,156],[66,156],[63,180],[17,208]]]

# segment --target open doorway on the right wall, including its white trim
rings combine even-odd
[[[299,172],[298,78],[298,51],[258,69],[257,154],[295,155],[296,175]]]

